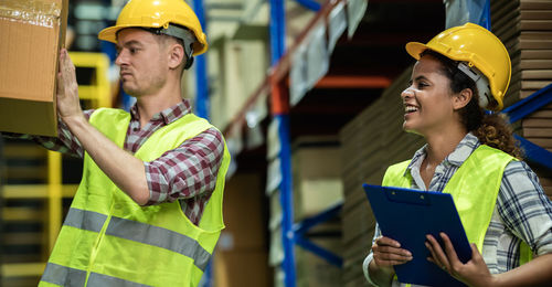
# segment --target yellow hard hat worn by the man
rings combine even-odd
[[[117,32],[125,28],[164,28],[169,23],[184,26],[193,32],[193,55],[203,54],[208,50],[206,36],[201,29],[200,20],[184,0],[129,0],[114,26],[102,30],[99,40],[117,43]]]

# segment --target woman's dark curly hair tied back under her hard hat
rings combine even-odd
[[[450,91],[460,93],[464,88],[474,92],[469,103],[459,110],[461,123],[468,131],[471,131],[482,145],[502,150],[518,159],[522,158],[522,150],[513,137],[511,126],[506,116],[501,114],[487,114],[479,107],[479,92],[476,83],[457,67],[458,63],[435,51],[425,50],[420,56],[431,55],[442,63],[443,74],[450,79]]]

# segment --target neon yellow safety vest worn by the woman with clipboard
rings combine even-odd
[[[497,203],[506,166],[512,156],[486,145],[479,146],[450,178],[444,193],[453,195],[458,215],[470,243],[482,251],[485,235]],[[410,160],[389,167],[382,185],[411,188],[412,176],[406,172]],[[527,243],[520,246],[520,264],[531,259]],[[528,254],[529,253],[529,254]]]

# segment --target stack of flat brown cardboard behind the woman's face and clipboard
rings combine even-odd
[[[343,286],[365,286],[362,262],[370,252],[375,219],[362,183],[381,184],[385,169],[406,159],[423,139],[402,129],[401,92],[411,70],[405,71],[382,96],[340,131],[344,202]]]

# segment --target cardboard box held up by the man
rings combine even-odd
[[[0,131],[57,135],[55,78],[67,0],[0,4]]]

